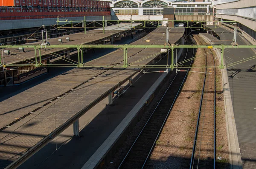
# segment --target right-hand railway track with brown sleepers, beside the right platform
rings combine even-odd
[[[198,35],[194,35],[201,45],[207,45]],[[216,80],[215,60],[210,49],[204,49],[206,68],[190,169],[215,169],[215,104]],[[211,68],[212,67],[212,68]]]

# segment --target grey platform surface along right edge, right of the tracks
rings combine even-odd
[[[224,29],[213,29],[219,34],[221,43],[230,45],[233,32]],[[224,41],[225,40],[225,41]],[[239,45],[248,45],[237,36]],[[225,49],[226,64],[246,59],[256,54],[251,49]],[[244,169],[256,168],[256,59],[227,68],[233,111],[236,121],[241,158]]]

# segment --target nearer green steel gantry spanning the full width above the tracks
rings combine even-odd
[[[113,68],[144,68],[146,65],[129,65],[127,62],[127,51],[128,48],[160,48],[160,49],[167,49],[171,50],[171,65],[152,65],[155,68],[171,68],[173,70],[174,68],[181,68],[181,66],[178,63],[174,63],[174,50],[175,48],[215,48],[215,49],[221,49],[221,65],[220,68],[224,68],[225,65],[223,65],[223,57],[224,57],[224,50],[225,48],[256,48],[256,45],[239,45],[239,46],[233,46],[233,45],[50,45],[50,46],[41,46],[41,45],[4,45],[0,46],[1,48],[33,48],[35,51],[35,57],[30,58],[34,59],[35,63],[33,64],[18,64],[18,63],[13,63],[13,64],[2,64],[1,59],[0,59],[0,67],[17,67],[17,66],[35,66],[35,67],[78,67],[78,68],[110,68],[112,66]],[[72,49],[76,48],[78,51],[78,62],[73,63],[70,62],[71,64],[43,64],[41,62],[41,50],[42,48],[62,48],[62,49]],[[124,53],[124,62],[123,65],[88,65],[88,64],[83,64],[83,49],[84,48],[122,48]],[[39,55],[37,54],[37,51],[39,50]],[[61,49],[60,49],[61,51]],[[81,51],[81,54],[80,54]],[[45,56],[44,54],[43,56]],[[0,58],[1,58],[1,53],[0,53]],[[81,58],[81,59],[80,59]],[[256,59],[256,56],[252,56],[250,58],[244,59],[239,61],[240,62],[246,62],[251,59]],[[25,61],[25,60],[24,60]],[[238,64],[238,62],[233,63],[233,64]],[[202,66],[203,67],[203,66]],[[182,66],[184,68],[184,66]]]

